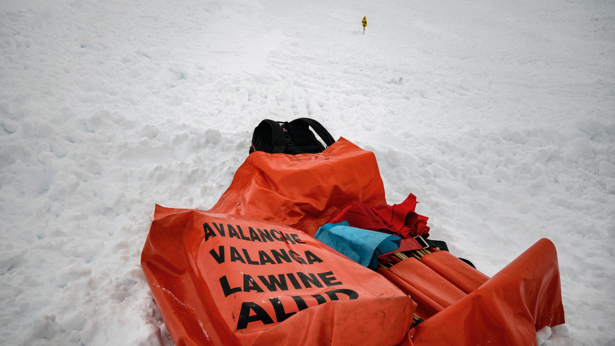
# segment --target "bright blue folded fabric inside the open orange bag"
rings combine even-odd
[[[314,238],[333,247],[363,267],[378,268],[378,256],[399,249],[399,236],[350,227],[347,221],[327,223]]]

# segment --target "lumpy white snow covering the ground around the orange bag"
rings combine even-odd
[[[615,344],[613,1],[2,0],[0,52],[4,345],[172,345],[154,204],[209,209],[302,116],[486,275],[551,239],[539,344]]]

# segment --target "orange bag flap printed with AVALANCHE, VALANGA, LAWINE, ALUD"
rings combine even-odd
[[[416,304],[280,223],[156,206],[141,265],[176,345],[395,345]]]

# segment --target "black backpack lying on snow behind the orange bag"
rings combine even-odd
[[[290,155],[320,153],[325,147],[310,131],[310,126],[327,147],[335,143],[325,127],[314,119],[299,118],[290,122],[265,119],[254,129],[250,154],[255,151]]]

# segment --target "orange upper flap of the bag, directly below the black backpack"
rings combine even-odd
[[[314,236],[357,203],[386,203],[383,181],[374,153],[340,138],[317,154],[248,155],[208,212],[280,222]]]

